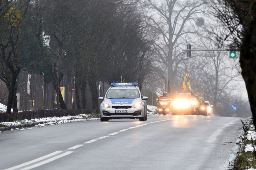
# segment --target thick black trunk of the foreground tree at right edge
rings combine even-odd
[[[241,45],[240,64],[242,76],[248,93],[248,99],[256,127],[256,19],[253,18],[250,27],[245,30]]]

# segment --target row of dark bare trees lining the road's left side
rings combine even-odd
[[[85,108],[88,86],[92,108],[96,109],[100,81],[134,81],[141,86],[150,72],[152,41],[145,36],[147,28],[137,0],[20,0],[22,6],[17,3],[0,1],[0,10],[3,10],[0,29],[6,31],[1,34],[0,46],[1,79],[10,95],[7,112],[16,104],[16,99],[12,99],[16,93],[10,92],[15,91],[20,69],[47,73],[47,81],[52,81],[61,109],[66,109],[60,93],[64,74],[75,77],[76,107]],[[22,15],[18,27],[5,19],[12,7]],[[10,36],[10,42],[5,42],[4,38],[11,35],[12,30],[16,34]],[[49,47],[44,44],[43,32],[50,37]],[[14,56],[14,62],[9,61],[14,66],[4,62],[5,46],[8,55]]]

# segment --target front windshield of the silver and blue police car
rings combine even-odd
[[[106,98],[139,98],[138,89],[109,89]]]

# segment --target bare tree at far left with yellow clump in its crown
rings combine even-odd
[[[6,112],[10,113],[12,108],[14,112],[18,111],[16,97],[16,79],[20,72],[18,56],[19,48],[26,36],[21,23],[28,10],[29,0],[3,0],[0,3],[0,79],[9,91]]]

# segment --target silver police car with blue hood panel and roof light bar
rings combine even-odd
[[[137,83],[111,83],[105,97],[99,97],[100,121],[109,119],[147,120],[148,97],[143,97]]]

